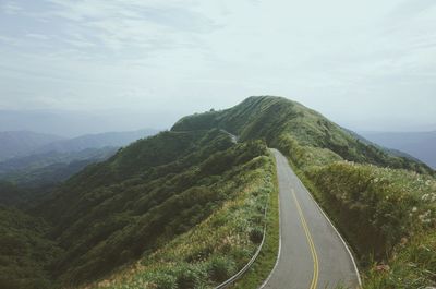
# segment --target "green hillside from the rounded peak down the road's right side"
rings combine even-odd
[[[250,97],[230,109],[189,116],[172,131],[210,128],[227,130],[241,141],[265,140],[288,156],[351,242],[368,288],[436,284],[436,240],[428,234],[436,228],[436,181],[429,167],[364,142],[282,97]],[[420,245],[428,250],[413,256]],[[396,258],[399,254],[401,260]],[[385,263],[404,268],[395,278],[389,272],[373,270]],[[410,284],[404,282],[407,277]]]

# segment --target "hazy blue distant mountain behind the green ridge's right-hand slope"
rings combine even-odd
[[[361,132],[367,140],[398,149],[436,169],[436,131],[433,132]]]

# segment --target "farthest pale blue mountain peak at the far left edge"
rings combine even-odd
[[[0,132],[0,160],[28,154],[36,147],[60,141],[63,137],[29,131]]]

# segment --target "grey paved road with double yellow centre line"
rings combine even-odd
[[[279,181],[281,245],[276,267],[263,288],[359,288],[356,268],[346,244],[286,157],[271,150]]]

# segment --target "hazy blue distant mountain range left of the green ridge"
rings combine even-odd
[[[89,164],[109,158],[119,147],[156,132],[108,132],[73,139],[28,131],[2,132],[0,180],[32,186],[60,182]]]

